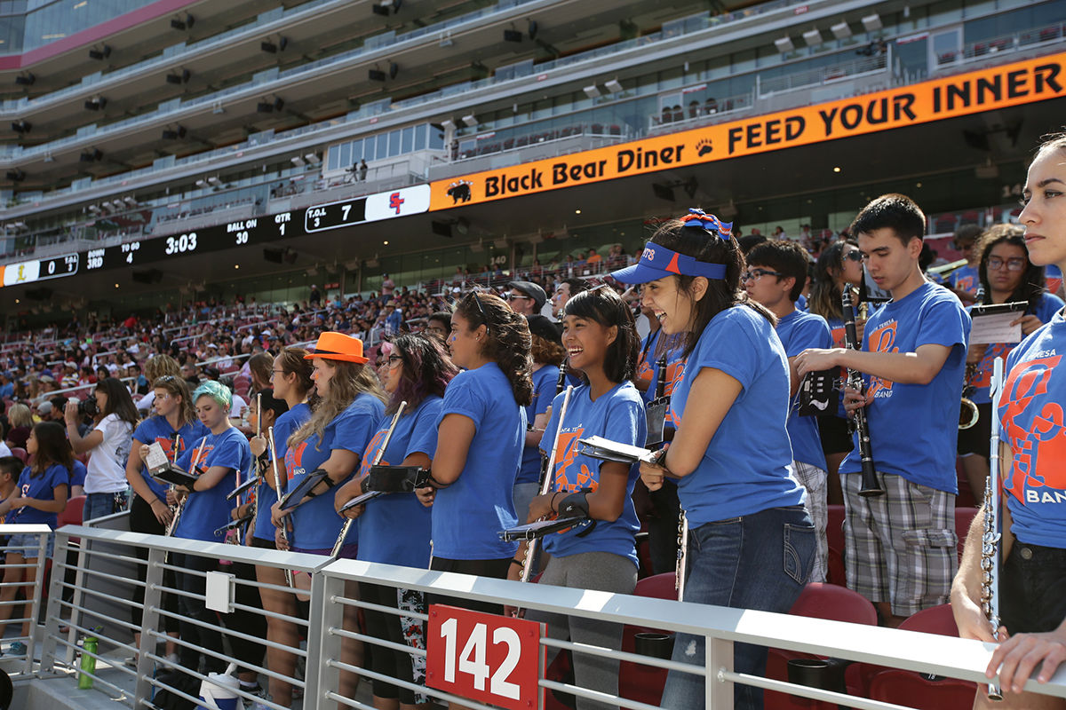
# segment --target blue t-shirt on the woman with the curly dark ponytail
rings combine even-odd
[[[499,560],[518,544],[500,540],[513,528],[513,490],[526,441],[526,409],[495,362],[459,373],[448,384],[440,420],[461,414],[474,425],[473,440],[458,479],[437,491],[433,503],[434,555],[450,560]]]

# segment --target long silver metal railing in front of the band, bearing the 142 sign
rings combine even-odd
[[[231,653],[220,654],[217,650],[204,648],[187,641],[178,643],[191,650],[206,654],[220,662],[239,662],[257,673],[273,676],[297,688],[303,687],[305,690],[304,708],[306,710],[334,708],[338,703],[359,709],[369,707],[356,697],[350,697],[349,694],[339,692],[341,673],[355,673],[361,678],[379,679],[399,687],[407,687],[438,701],[457,701],[467,707],[488,708],[488,706],[472,703],[465,697],[426,688],[420,683],[410,684],[395,678],[381,676],[373,670],[364,667],[360,661],[353,661],[352,658],[342,659],[341,645],[345,641],[371,644],[375,648],[382,648],[383,651],[400,650],[413,657],[426,657],[426,651],[416,646],[405,647],[364,632],[353,623],[352,611],[364,609],[384,612],[406,616],[415,622],[425,622],[429,618],[427,614],[407,608],[398,610],[397,608],[361,601],[353,593],[354,582],[369,582],[385,588],[403,589],[470,601],[511,605],[528,610],[565,614],[571,617],[581,616],[612,624],[639,624],[642,627],[662,629],[666,632],[683,632],[702,637],[707,641],[707,660],[704,665],[678,663],[547,637],[540,639],[539,644],[549,649],[567,649],[574,654],[607,656],[652,668],[700,676],[705,679],[708,708],[731,708],[734,683],[828,703],[840,703],[847,707],[866,710],[901,708],[901,706],[857,696],[738,674],[732,670],[732,645],[737,642],[754,643],[802,654],[842,658],[924,674],[936,674],[976,683],[986,682],[984,668],[992,651],[991,644],[933,634],[916,635],[916,632],[912,631],[684,604],[625,594],[521,584],[453,573],[372,564],[357,560],[330,562],[328,558],[312,555],[175,540],[116,530],[65,527],[56,531],[56,536],[55,571],[56,573],[67,571],[75,573],[76,581],[72,584],[67,584],[63,581],[64,575],[53,574],[41,673],[47,674],[53,670],[62,670],[64,666],[71,667],[77,651],[76,634],[86,632],[95,621],[100,621],[107,628],[116,629],[113,633],[104,633],[100,637],[101,650],[95,657],[104,662],[114,661],[113,651],[115,649],[136,650],[125,640],[128,637],[125,637],[124,632],[140,630],[144,639],[165,640],[165,637],[158,630],[162,618],[169,615],[163,608],[162,595],[164,593],[181,594],[185,598],[199,602],[207,601],[206,595],[180,591],[164,583],[163,575],[166,571],[179,569],[177,565],[164,561],[165,555],[167,552],[181,554],[209,560],[221,558],[245,564],[291,568],[311,576],[308,617],[304,620],[298,616],[284,616],[285,622],[298,624],[302,628],[306,628],[306,651],[291,649],[288,646],[285,646],[285,650],[306,658],[307,677],[301,682],[294,677],[279,676],[270,668],[260,665],[256,659],[241,658],[240,661],[237,661]],[[78,550],[77,563],[72,567],[68,567],[65,552],[75,549],[71,547],[71,536],[79,536],[81,543],[80,547],[76,548]],[[131,554],[136,549],[146,550],[147,559],[141,560]],[[143,582],[145,590],[144,621],[140,629],[126,621],[130,606],[125,600],[128,598],[128,591],[125,593],[116,592],[111,587],[100,589],[100,584],[109,584],[125,585],[126,590],[130,590],[138,583],[134,574],[134,565],[136,564],[143,565],[146,574]],[[227,584],[230,594],[241,585],[260,590],[290,591],[287,587],[261,584],[242,580],[239,577],[229,578]],[[61,594],[62,590],[67,587],[74,592],[74,598],[69,602],[63,601]],[[120,601],[120,605],[116,601]],[[108,604],[111,606],[109,607]],[[223,606],[226,606],[225,602]],[[228,611],[238,610],[239,607],[241,607],[239,602],[230,601]],[[227,609],[223,609],[221,614],[223,617],[227,615],[226,611]],[[64,617],[64,612],[69,613],[69,621]],[[223,634],[228,633],[230,637],[240,638],[242,635],[239,631],[227,629],[224,625],[212,625],[205,622],[203,617],[197,618],[195,624],[201,628],[213,628]],[[68,626],[69,630],[66,633],[60,633],[61,625]],[[262,643],[261,639],[253,640]],[[271,643],[268,641],[264,645],[270,646]],[[172,680],[167,680],[166,677],[152,677],[154,665],[161,668],[173,667],[173,663],[167,661],[165,657],[155,653],[155,646],[149,642],[146,649],[138,657],[135,672],[132,668],[112,667],[93,674],[93,676],[100,687],[112,693],[118,693],[118,699],[133,708],[147,707],[151,693],[158,690],[169,690],[188,699],[196,699],[168,684],[173,682],[173,676]],[[122,675],[116,675],[115,671],[119,671]],[[204,679],[201,674],[190,668],[179,670],[179,673],[185,674],[196,681]],[[116,680],[118,682],[113,682]],[[120,682],[125,682],[126,686],[119,684]],[[133,682],[132,691],[129,689],[130,682]],[[580,697],[598,699],[627,710],[649,710],[657,707],[627,699],[624,696],[598,693],[574,683],[546,679],[543,674],[538,680],[538,687],[546,691],[561,691]],[[1051,681],[1046,684],[1030,680],[1025,690],[1066,697],[1066,668],[1060,668]],[[251,697],[248,693],[242,691],[238,692],[238,695],[244,698]],[[271,708],[280,707],[270,701],[264,705]]]

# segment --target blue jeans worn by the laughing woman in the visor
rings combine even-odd
[[[788,613],[814,566],[814,525],[803,506],[770,508],[689,531],[684,600],[733,609]],[[779,561],[779,562],[778,562]],[[704,665],[706,639],[678,633],[674,661]],[[763,676],[766,648],[733,644],[733,671]],[[704,707],[705,680],[671,671],[662,707]],[[762,690],[734,686],[734,708],[762,708]]]

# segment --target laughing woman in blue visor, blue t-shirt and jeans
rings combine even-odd
[[[613,275],[645,284],[663,332],[685,333],[688,366],[671,401],[677,433],[641,479],[649,491],[679,479],[690,530],[683,601],[787,613],[813,567],[815,531],[792,475],[788,359],[773,314],[742,288],[730,227],[690,210]],[[702,665],[705,651],[702,637],[678,633],[674,661]],[[733,654],[738,673],[764,674],[765,648],[738,643]],[[704,693],[702,678],[671,672],[662,707],[702,708]],[[762,691],[737,684],[734,700],[761,708]]]

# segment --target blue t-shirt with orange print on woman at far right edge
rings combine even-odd
[[[1061,313],[1016,347],[1006,361],[1006,382],[998,402],[1001,436],[1011,445],[1003,490],[1018,540],[1062,547],[1066,539],[1066,377],[1057,367],[1066,346]],[[1057,374],[1057,375],[1056,375]]]

